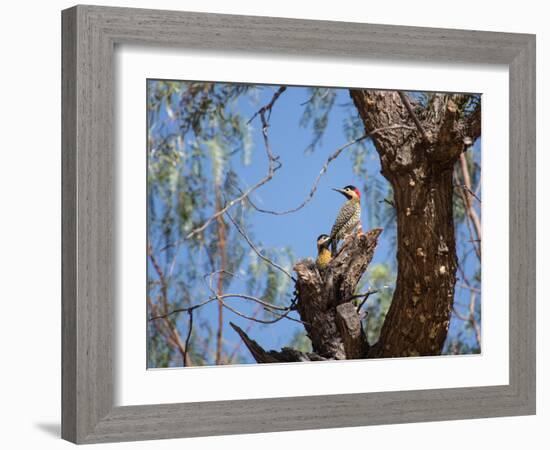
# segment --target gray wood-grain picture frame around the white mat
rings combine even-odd
[[[63,11],[62,30],[63,438],[93,443],[535,413],[535,36],[96,6]],[[119,43],[506,64],[510,383],[114,407],[113,52]]]

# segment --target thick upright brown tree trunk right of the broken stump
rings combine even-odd
[[[441,353],[454,300],[457,257],[453,167],[479,136],[480,114],[464,118],[467,96],[434,94],[427,106],[406,94],[351,90],[380,156],[397,212],[397,282],[369,357]],[[381,131],[394,125],[409,128]],[[410,126],[414,127],[412,130]]]

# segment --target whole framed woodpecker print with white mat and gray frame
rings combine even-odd
[[[534,413],[534,36],[62,16],[65,439]]]

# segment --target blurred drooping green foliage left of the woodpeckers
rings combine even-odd
[[[148,82],[148,243],[167,284],[164,295],[158,274],[149,262],[148,297],[159,312],[167,312],[164,302],[172,310],[207,298],[218,280],[224,291],[229,290],[236,277],[244,277],[248,292],[265,301],[283,301],[287,280],[258,261],[227,220],[222,218],[204,232],[185,239],[219,208],[217,200],[225,203],[239,194],[242,183],[235,167],[250,164],[253,128],[240,114],[237,101],[241,95],[254,101],[260,89],[252,85]],[[245,204],[232,211],[243,226],[249,213]],[[223,245],[221,228],[225,232]],[[283,264],[290,267],[290,249],[267,252],[272,258],[280,253]],[[222,253],[224,273],[205,279],[205,274],[219,270]],[[213,362],[211,351],[197,350],[211,350],[214,345],[214,324],[208,318],[212,314],[212,308],[195,312],[196,326],[190,338],[191,343],[197,343],[191,346],[194,350],[190,354],[195,365]],[[168,320],[185,336],[186,315]],[[149,367],[181,364],[181,355],[166,345],[153,323],[148,324],[148,337]],[[225,347],[223,350],[229,351]]]

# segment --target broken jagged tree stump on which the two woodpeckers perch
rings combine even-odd
[[[294,271],[296,310],[304,322],[313,352],[290,348],[265,351],[256,341],[234,324],[248,350],[257,362],[322,361],[327,359],[366,358],[368,342],[354,305],[355,289],[367,269],[381,229],[350,235],[338,255],[320,273],[311,259],[298,261]]]

